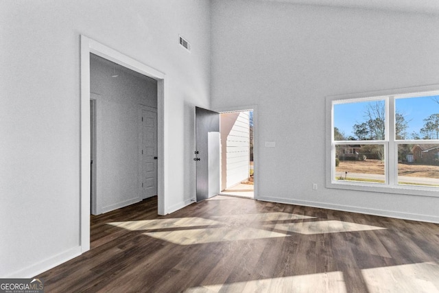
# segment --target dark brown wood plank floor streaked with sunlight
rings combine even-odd
[[[45,292],[439,292],[439,224],[216,196],[91,217]]]

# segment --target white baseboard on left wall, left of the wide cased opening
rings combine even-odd
[[[41,274],[46,270],[50,270],[51,268],[54,268],[60,265],[61,263],[69,261],[70,259],[78,257],[79,255],[81,255],[80,246],[64,251],[64,253],[60,253],[58,255],[49,257],[48,259],[40,261],[39,263],[32,264],[27,268],[23,268],[16,272],[12,272],[11,274],[4,276],[4,278],[14,278],[14,279],[33,278],[36,275]]]

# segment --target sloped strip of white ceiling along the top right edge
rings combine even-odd
[[[338,6],[439,14],[439,0],[263,0],[304,5]]]

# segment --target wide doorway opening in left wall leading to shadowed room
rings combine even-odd
[[[90,54],[90,91],[91,214],[157,196],[157,81]]]

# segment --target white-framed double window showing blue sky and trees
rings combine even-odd
[[[327,113],[327,187],[439,193],[439,91],[327,97]]]

